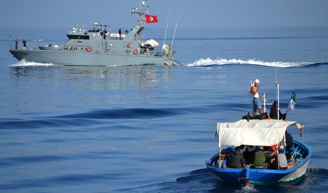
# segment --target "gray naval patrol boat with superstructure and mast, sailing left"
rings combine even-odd
[[[69,40],[61,46],[49,44],[39,46],[38,49],[14,49],[10,43],[10,53],[19,61],[62,65],[180,65],[173,60],[175,51],[167,44],[163,44],[162,49],[156,51],[155,48],[159,44],[155,40],[142,41],[148,7],[146,0],[140,3],[140,9],[131,9],[132,14],[139,15],[139,19],[138,25],[130,32],[109,33],[109,25],[94,23],[94,28],[89,31],[73,27],[67,34]]]

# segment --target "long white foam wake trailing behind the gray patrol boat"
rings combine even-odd
[[[312,63],[283,63],[283,62],[263,62],[259,60],[236,60],[236,59],[216,59],[212,60],[210,58],[197,60],[191,64],[187,64],[187,66],[207,66],[207,65],[224,65],[224,64],[251,64],[251,65],[265,65],[265,66],[272,66],[272,67],[293,67],[293,66],[303,66]]]

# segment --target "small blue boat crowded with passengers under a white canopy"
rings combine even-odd
[[[296,102],[294,95],[293,92],[292,105]],[[254,105],[257,111],[258,106]],[[253,116],[247,113],[234,123],[216,123],[219,152],[205,164],[218,180],[246,185],[294,185],[301,180],[312,150],[293,139],[287,128],[296,126],[302,137],[305,126],[284,120],[286,113],[281,114],[279,101],[273,104],[271,111],[270,114],[253,113]]]

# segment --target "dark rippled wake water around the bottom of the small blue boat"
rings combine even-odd
[[[307,168],[303,180],[295,186],[265,186],[225,183],[215,179],[215,175],[206,169],[190,172],[172,182],[150,184],[132,189],[120,189],[119,192],[172,193],[172,192],[210,192],[210,193],[308,193],[327,190],[328,170],[324,168]],[[273,188],[274,187],[274,188]]]

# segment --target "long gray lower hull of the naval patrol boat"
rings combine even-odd
[[[171,58],[126,55],[92,52],[67,52],[53,50],[10,50],[10,53],[19,61],[37,63],[51,63],[60,65],[133,65],[133,64],[158,64],[158,65],[180,65]]]

